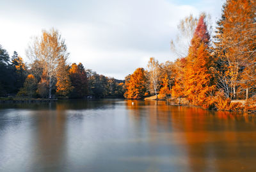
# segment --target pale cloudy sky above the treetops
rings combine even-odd
[[[212,24],[224,0],[2,0],[0,44],[29,63],[33,36],[52,27],[65,39],[68,63],[83,63],[98,74],[124,79],[150,57],[175,61],[170,40],[181,19],[205,12]]]

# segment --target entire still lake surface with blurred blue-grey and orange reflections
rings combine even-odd
[[[256,118],[154,101],[2,104],[0,171],[256,171]]]

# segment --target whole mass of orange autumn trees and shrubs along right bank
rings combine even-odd
[[[255,111],[255,13],[256,1],[227,0],[213,34],[204,13],[198,19],[190,15],[181,20],[180,34],[171,42],[179,58],[160,64],[150,58],[147,69],[137,69],[143,74],[134,72],[125,78],[125,97],[157,99],[160,93],[179,104]],[[137,81],[136,75],[146,79]]]

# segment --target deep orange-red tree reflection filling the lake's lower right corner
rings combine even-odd
[[[250,164],[255,155],[255,130],[246,127],[248,116],[227,112],[211,112],[198,108],[184,108],[182,113],[184,145],[191,171],[236,171]],[[174,115],[173,118],[180,118]],[[244,132],[245,130],[246,132]],[[246,152],[246,153],[244,153]],[[253,153],[254,154],[253,154]],[[243,157],[247,154],[247,157]],[[245,168],[246,166],[244,166]]]

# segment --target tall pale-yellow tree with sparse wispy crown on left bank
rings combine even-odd
[[[33,45],[29,47],[28,56],[42,63],[45,80],[49,88],[48,97],[50,98],[52,88],[56,83],[58,70],[62,70],[59,65],[68,58],[65,40],[61,38],[60,33],[55,29],[42,31],[42,36],[36,38]]]

